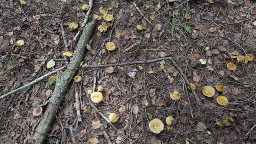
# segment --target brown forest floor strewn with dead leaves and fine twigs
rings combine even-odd
[[[256,60],[238,58],[256,55],[256,2],[210,2],[214,1],[94,0],[89,22],[97,17],[99,20],[83,62],[113,66],[78,69],[76,75],[82,82],[72,81],[67,88],[46,143],[71,144],[74,138],[76,144],[109,144],[103,134],[106,132],[113,144],[255,144]],[[68,64],[72,57],[64,58],[63,52],[75,50],[73,38],[78,32],[70,30],[69,25],[82,24],[83,4],[88,1],[2,0],[0,96]],[[104,22],[101,13],[113,15],[106,32],[98,30]],[[138,24],[142,30],[136,28]],[[24,44],[20,46],[19,40]],[[107,42],[114,42],[116,50],[106,50]],[[46,63],[53,60],[55,65],[47,68],[45,64],[38,75],[32,76],[47,57]],[[164,57],[172,58],[177,66],[170,59],[145,62]],[[143,63],[129,64],[134,61]],[[128,64],[118,66],[120,63]],[[118,130],[90,105],[88,90],[92,90],[94,78],[96,87],[104,87],[104,100],[96,107],[107,118],[112,112],[119,115],[114,123]],[[194,92],[184,79],[194,84]],[[222,92],[204,96],[204,86],[215,89],[217,83],[224,86]],[[22,96],[26,89],[0,100],[1,144],[33,143],[33,130],[42,118],[33,116],[33,110],[51,97],[54,87],[48,77]],[[179,100],[170,98],[174,91],[180,92]],[[82,97],[82,122],[78,124],[76,92]],[[216,101],[220,95],[228,99],[225,106]],[[170,126],[165,122],[167,116],[174,118]],[[149,122],[154,118],[164,122],[160,134],[150,131]],[[68,127],[72,124],[74,133],[70,134]]]

